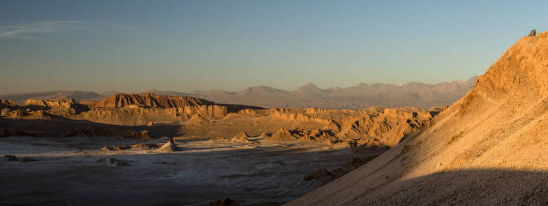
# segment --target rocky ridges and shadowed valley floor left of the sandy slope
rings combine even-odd
[[[2,203],[280,205],[419,133],[446,108],[261,108],[155,93],[55,98],[2,100]]]

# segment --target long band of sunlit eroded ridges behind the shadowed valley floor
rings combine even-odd
[[[206,128],[213,126],[222,130],[240,129],[244,133],[236,139],[223,135],[226,132],[218,133],[221,137],[212,137],[209,133],[198,134],[195,135],[196,139],[234,139],[247,143],[251,136],[245,133],[251,132],[253,135],[271,134],[260,137],[268,141],[310,141],[334,148],[358,146],[383,149],[396,146],[403,137],[429,126],[433,115],[441,111],[439,108],[426,111],[410,107],[372,107],[361,111],[321,108],[263,109],[152,93],[116,94],[93,106],[73,100],[26,100],[21,106],[12,101],[3,101],[0,106],[1,115],[13,119],[72,119],[120,126],[148,125],[151,128],[157,125],[156,122],[181,122],[183,127],[191,131],[207,132]],[[67,130],[62,136],[150,138],[146,131],[141,130],[122,131],[92,125]]]

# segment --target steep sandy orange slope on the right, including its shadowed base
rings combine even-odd
[[[545,205],[548,32],[525,36],[435,124],[288,205]]]

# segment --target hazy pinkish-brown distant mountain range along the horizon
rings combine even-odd
[[[315,84],[308,83],[295,91],[285,91],[273,87],[249,87],[242,91],[192,91],[182,93],[177,91],[159,91],[152,89],[147,93],[171,96],[193,96],[220,104],[245,104],[266,108],[332,108],[332,109],[363,109],[369,106],[400,107],[413,106],[430,108],[453,104],[464,96],[475,84],[477,76],[466,81],[424,84],[409,82],[407,84],[358,84],[354,87],[331,87],[320,89]],[[0,99],[26,100],[29,98],[70,98],[80,100],[102,100],[115,91],[101,94],[91,91],[52,91],[42,93],[21,93],[0,95]]]

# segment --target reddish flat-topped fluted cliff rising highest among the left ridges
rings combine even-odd
[[[117,93],[95,104],[97,108],[124,108],[132,105],[152,108],[211,105],[213,102],[192,97],[157,95],[154,93]]]

